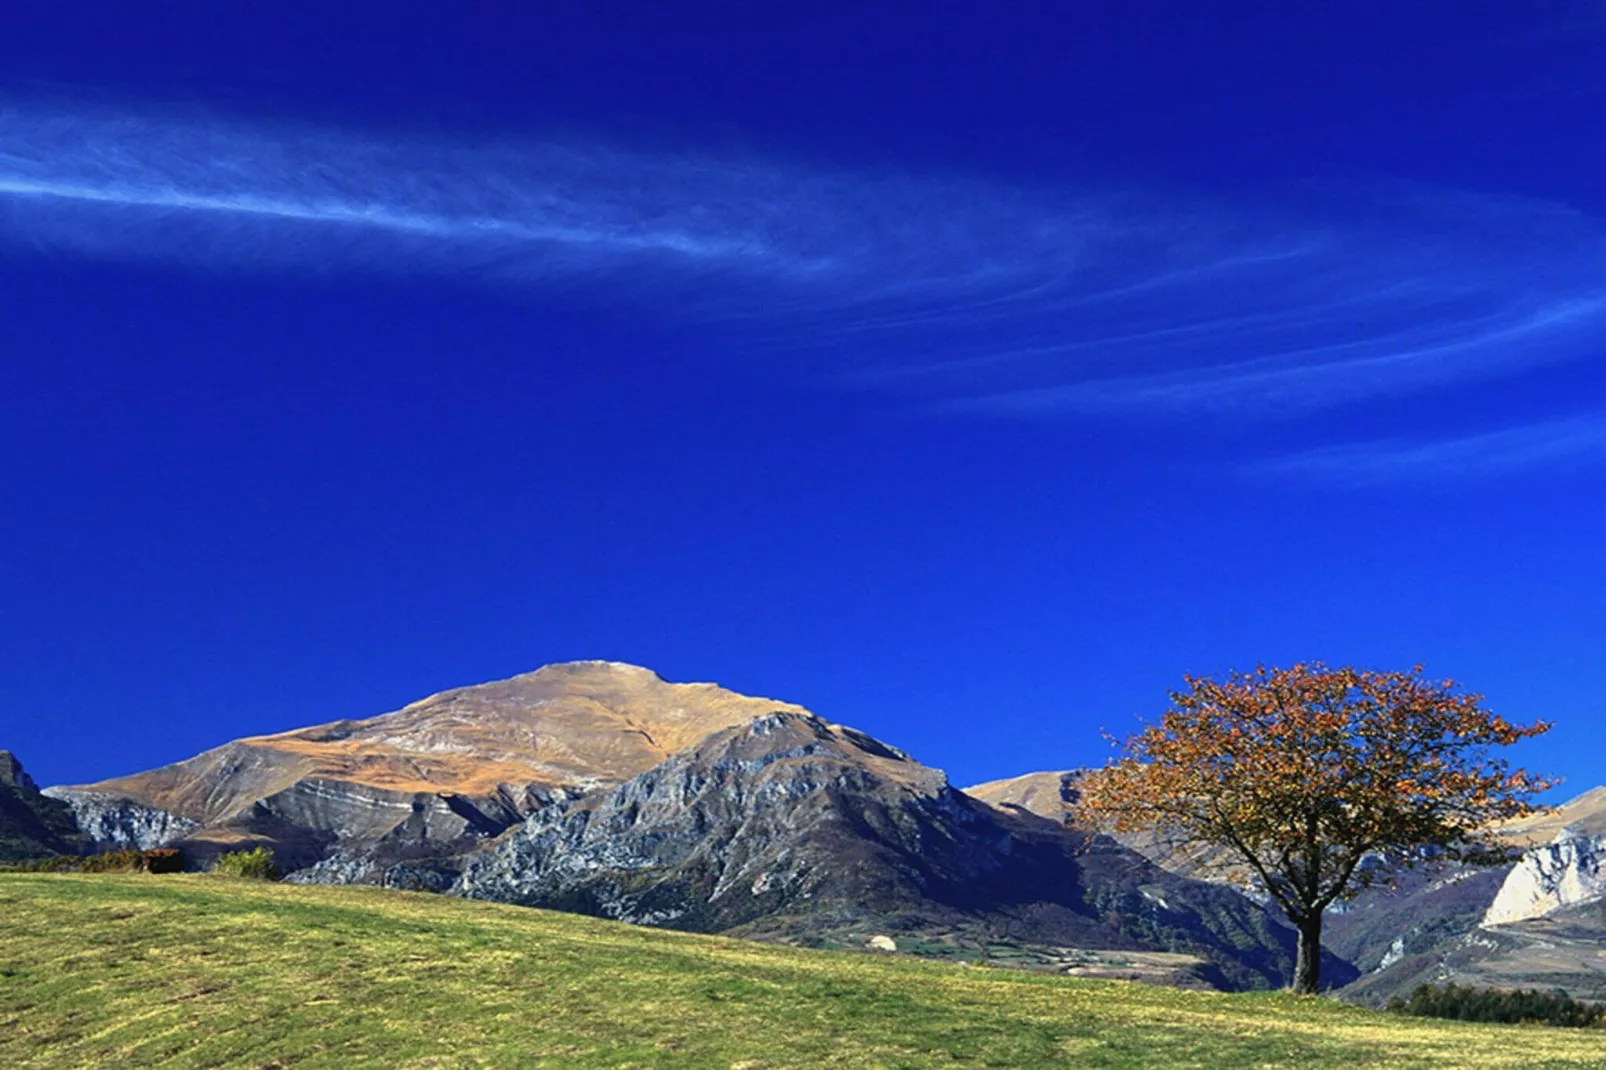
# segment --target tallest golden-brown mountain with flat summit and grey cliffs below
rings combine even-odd
[[[108,847],[183,839],[204,856],[260,842],[300,866],[377,843],[387,856],[456,850],[777,712],[809,717],[639,665],[562,662],[51,790]]]

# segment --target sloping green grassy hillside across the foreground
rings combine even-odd
[[[1600,1031],[373,888],[0,874],[5,1067],[1600,1067]]]

